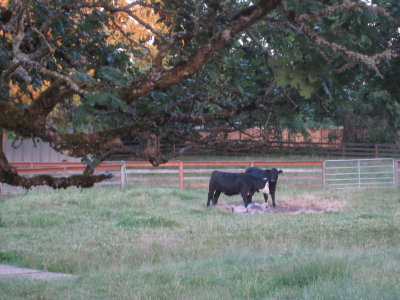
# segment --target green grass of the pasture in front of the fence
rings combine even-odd
[[[400,299],[398,189],[278,187],[278,205],[342,207],[292,215],[206,209],[206,197],[129,187],[3,197],[0,263],[77,278],[0,279],[0,299]]]

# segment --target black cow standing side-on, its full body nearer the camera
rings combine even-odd
[[[241,194],[244,205],[247,207],[251,203],[253,194],[258,190],[268,193],[268,178],[260,178],[246,173],[213,171],[210,178],[207,206],[210,206],[211,199],[213,204],[217,204],[219,195],[224,193],[228,196]]]

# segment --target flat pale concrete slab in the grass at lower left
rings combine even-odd
[[[46,270],[26,269],[26,268],[19,268],[19,267],[0,264],[0,279],[11,278],[11,277],[45,279],[45,280],[76,278],[75,275],[71,274],[54,273]]]

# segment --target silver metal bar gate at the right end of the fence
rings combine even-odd
[[[323,185],[334,189],[396,186],[397,162],[391,158],[326,160]]]

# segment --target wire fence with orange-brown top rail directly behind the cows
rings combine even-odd
[[[399,161],[397,161],[399,164]],[[81,163],[13,163],[19,174],[26,176],[51,174],[69,176],[82,173]],[[126,185],[132,187],[207,187],[213,170],[244,172],[246,168],[282,169],[279,186],[323,187],[323,161],[171,161],[159,167],[148,162],[105,162],[95,174],[111,173],[113,177],[96,185]],[[3,193],[21,190],[4,185]]]

